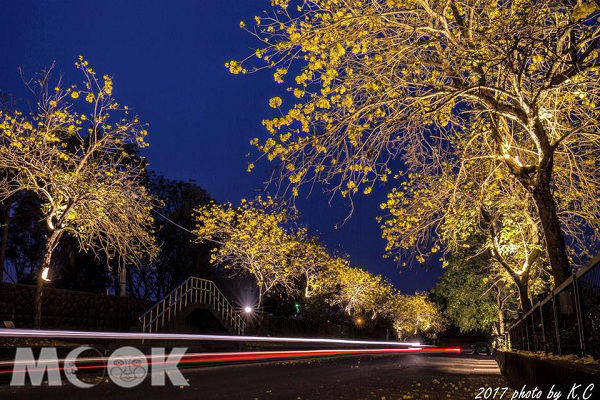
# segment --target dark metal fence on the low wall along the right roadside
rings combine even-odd
[[[600,357],[600,255],[537,303],[508,334],[513,350]]]

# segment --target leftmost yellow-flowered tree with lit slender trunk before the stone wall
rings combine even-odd
[[[130,154],[132,146],[145,146],[146,130],[114,100],[108,75],[98,77],[81,57],[75,65],[83,86],[65,89],[60,80],[53,85],[50,68],[30,86],[37,94],[35,111],[0,113],[0,169],[9,172],[0,182],[0,197],[35,193],[48,229],[37,271],[38,327],[43,285],[63,235],[76,238],[84,250],[118,256],[123,264],[139,266],[157,252],[153,200],[140,183],[143,165]]]

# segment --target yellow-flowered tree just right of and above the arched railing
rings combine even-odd
[[[213,202],[196,209],[195,215],[197,240],[217,245],[211,262],[256,280],[258,307],[274,290],[296,290],[299,242],[286,229],[289,215],[271,198],[242,200],[239,207]]]

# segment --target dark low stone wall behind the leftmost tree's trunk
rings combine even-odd
[[[0,324],[1,321],[13,321],[16,328],[33,328],[34,296],[35,286],[0,283]],[[46,287],[42,301],[42,328],[141,330],[138,317],[152,304],[129,297]]]

